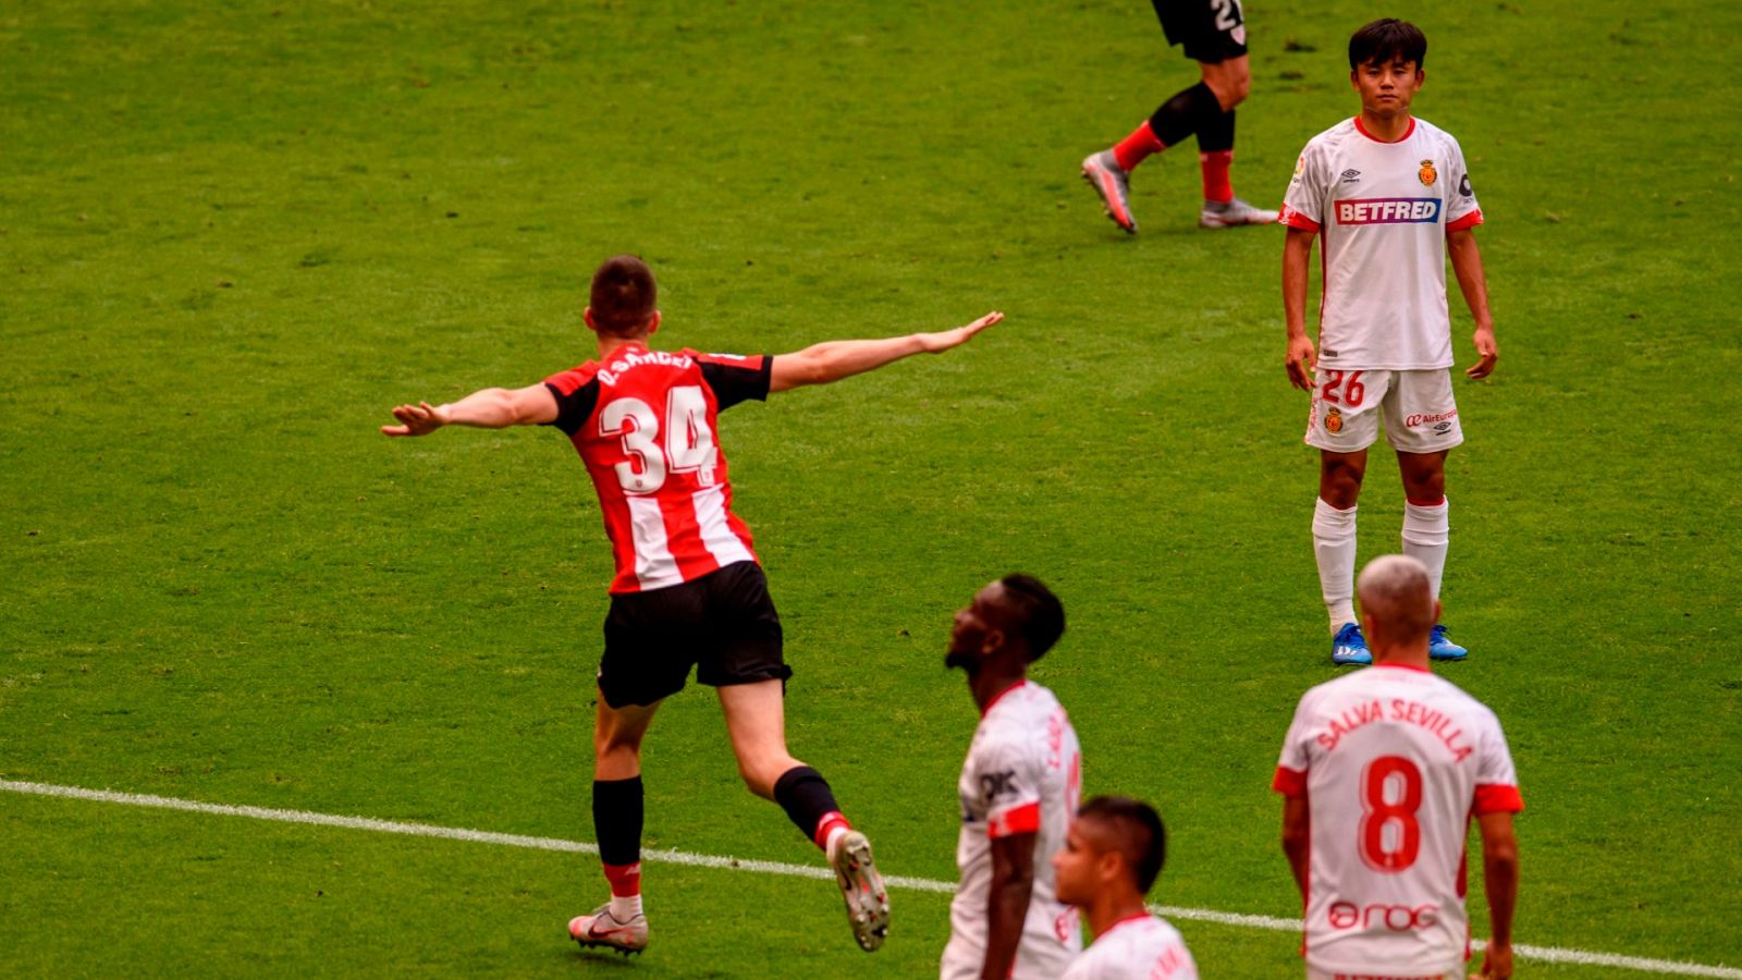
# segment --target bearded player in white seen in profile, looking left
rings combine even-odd
[[[962,886],[942,980],[1056,980],[1082,949],[1047,861],[1082,795],[1082,753],[1059,699],[1028,680],[1063,633],[1064,607],[1031,575],[974,593],[949,631],[944,664],[967,671],[981,724],[956,786]]]

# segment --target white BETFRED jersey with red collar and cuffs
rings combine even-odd
[[[1451,366],[1446,234],[1481,225],[1482,209],[1449,133],[1420,119],[1397,143],[1361,119],[1326,129],[1301,152],[1279,221],[1324,242],[1320,368]]]

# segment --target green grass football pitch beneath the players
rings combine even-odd
[[[1357,108],[1378,16],[1488,218],[1441,670],[1517,762],[1519,973],[1742,977],[1742,7],[1252,0],[1242,197]],[[14,0],[0,78],[0,975],[935,975],[944,640],[1010,570],[1064,600],[1035,678],[1085,792],[1167,820],[1200,971],[1300,975],[1268,785],[1334,668],[1282,234],[1198,230],[1192,146],[1136,237],[1082,187],[1195,78],[1148,5]],[[592,488],[550,431],[376,434],[589,357],[618,251],[665,347],[1009,314],[721,415],[791,746],[906,879],[874,956],[695,685],[645,753],[648,952],[566,940],[604,896]],[[1362,561],[1401,497],[1374,455]]]

